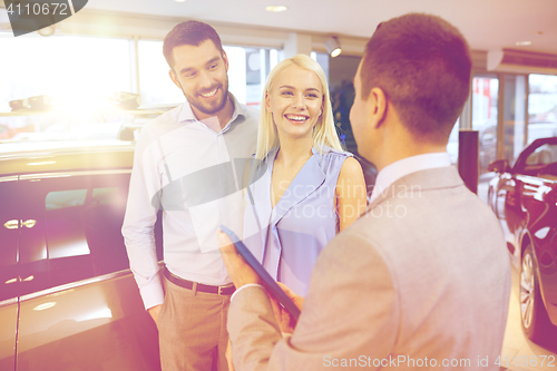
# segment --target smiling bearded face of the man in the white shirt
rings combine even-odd
[[[182,89],[198,119],[216,116],[228,98],[228,59],[212,40],[198,47],[183,45],[173,49],[170,77]]]

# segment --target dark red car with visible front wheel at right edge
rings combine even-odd
[[[534,140],[517,157],[489,165],[488,203],[510,234],[520,271],[522,330],[543,341],[557,326],[557,137]]]

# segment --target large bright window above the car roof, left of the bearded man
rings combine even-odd
[[[129,40],[0,36],[0,113],[11,111],[12,100],[43,99],[27,116],[0,117],[0,139],[116,138],[121,115],[98,109],[131,89]]]

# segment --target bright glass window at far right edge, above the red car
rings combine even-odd
[[[528,77],[528,144],[557,136],[557,76]]]

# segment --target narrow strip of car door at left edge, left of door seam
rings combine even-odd
[[[0,177],[0,370],[16,368],[18,323],[18,177]]]

